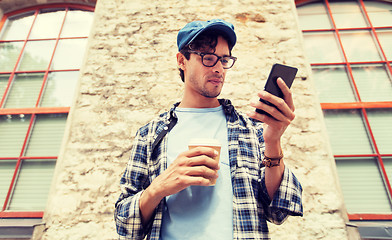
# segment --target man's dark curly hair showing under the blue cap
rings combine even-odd
[[[216,50],[216,45],[218,45],[218,37],[222,36],[223,38],[226,39],[224,34],[217,32],[217,31],[206,31],[201,33],[199,36],[197,36],[190,44],[185,45],[181,50],[180,53],[184,55],[184,57],[189,60],[191,57],[191,54],[189,53],[189,50],[192,51],[200,51],[200,52],[215,52]],[[229,41],[227,41],[229,42]],[[229,51],[231,55],[231,49],[233,46],[229,46]],[[185,76],[184,76],[184,70],[181,68],[178,69],[180,71],[180,77],[181,80],[184,82],[185,81]]]

